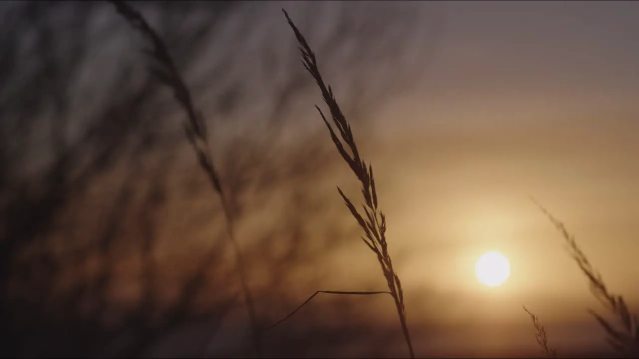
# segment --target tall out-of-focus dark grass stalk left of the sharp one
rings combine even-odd
[[[135,30],[137,30],[148,42],[150,42],[151,49],[146,50],[145,52],[154,60],[155,63],[155,66],[151,68],[151,73],[166,86],[173,89],[175,99],[186,112],[187,116],[183,125],[187,139],[189,139],[189,142],[196,153],[200,167],[204,172],[206,172],[213,190],[215,190],[215,192],[219,195],[220,201],[222,202],[222,210],[224,211],[224,216],[226,218],[229,240],[235,252],[236,270],[240,277],[246,308],[249,314],[255,350],[257,355],[261,357],[261,330],[259,328],[258,316],[252,300],[252,294],[250,293],[250,289],[247,284],[247,278],[244,273],[245,266],[242,250],[240,250],[240,246],[235,240],[235,235],[233,233],[233,215],[228,205],[226,192],[222,189],[219,175],[213,165],[213,157],[210,151],[206,133],[206,123],[204,122],[203,116],[201,112],[196,109],[189,88],[187,88],[187,85],[180,76],[173,58],[169,55],[166,45],[148,22],[146,22],[144,17],[142,17],[142,14],[124,1],[108,1],[116,7],[118,13],[122,15]]]

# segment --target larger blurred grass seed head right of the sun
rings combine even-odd
[[[592,309],[589,309],[589,313],[596,319],[597,323],[601,325],[608,335],[608,343],[619,353],[624,355],[636,356],[639,355],[639,319],[636,314],[631,314],[626,301],[620,295],[610,293],[608,287],[604,283],[601,275],[594,269],[586,255],[581,248],[577,245],[574,236],[568,232],[566,225],[553,217],[546,208],[541,206],[539,202],[532,199],[537,207],[550,219],[555,228],[561,233],[562,237],[566,241],[569,253],[573,257],[575,263],[579,266],[583,275],[585,275],[589,281],[590,292],[597,298],[597,301],[603,305],[603,307],[616,317],[617,321],[621,324],[621,330],[618,330],[611,323],[606,321],[600,314],[597,314]]]

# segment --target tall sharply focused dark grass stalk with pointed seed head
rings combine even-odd
[[[344,199],[346,206],[350,210],[353,217],[355,217],[360,227],[364,229],[366,238],[362,236],[362,240],[377,256],[377,259],[381,266],[381,270],[389,286],[390,294],[395,300],[397,315],[399,316],[399,322],[401,323],[404,338],[406,339],[406,344],[408,345],[408,351],[410,351],[410,357],[414,358],[415,353],[413,352],[413,346],[410,341],[410,333],[408,332],[408,325],[406,324],[404,293],[399,277],[397,277],[397,273],[394,270],[392,261],[390,259],[388,243],[385,235],[386,217],[378,208],[377,192],[375,190],[375,180],[373,176],[373,166],[370,164],[367,165],[364,159],[360,157],[359,151],[355,144],[355,139],[353,138],[351,126],[344,117],[341,109],[339,108],[337,100],[335,100],[335,96],[333,95],[332,89],[330,88],[330,86],[327,86],[325,84],[324,80],[321,77],[314,52],[311,50],[311,47],[306,42],[304,36],[302,36],[302,33],[300,33],[295,24],[293,24],[293,20],[291,20],[288,13],[286,13],[286,10],[282,9],[282,11],[284,11],[286,20],[288,20],[288,24],[289,26],[291,26],[291,29],[293,29],[293,32],[295,33],[297,41],[300,45],[299,49],[302,53],[302,63],[304,64],[306,70],[311,73],[312,77],[317,82],[324,102],[327,104],[332,116],[332,123],[337,128],[337,132],[339,132],[339,137],[335,133],[333,126],[330,125],[330,123],[328,122],[326,116],[324,116],[321,109],[319,109],[317,105],[315,107],[318,110],[319,115],[323,119],[325,125],[327,126],[330,138],[335,144],[337,151],[339,151],[339,154],[342,156],[342,158],[344,158],[344,161],[346,161],[351,171],[353,171],[353,174],[355,174],[357,179],[362,184],[362,195],[364,196],[364,204],[362,204],[362,209],[364,210],[366,218],[360,215],[360,213],[353,205],[353,202],[348,197],[346,197],[346,195],[344,195],[344,192],[342,192],[339,187],[337,187],[337,191]]]

